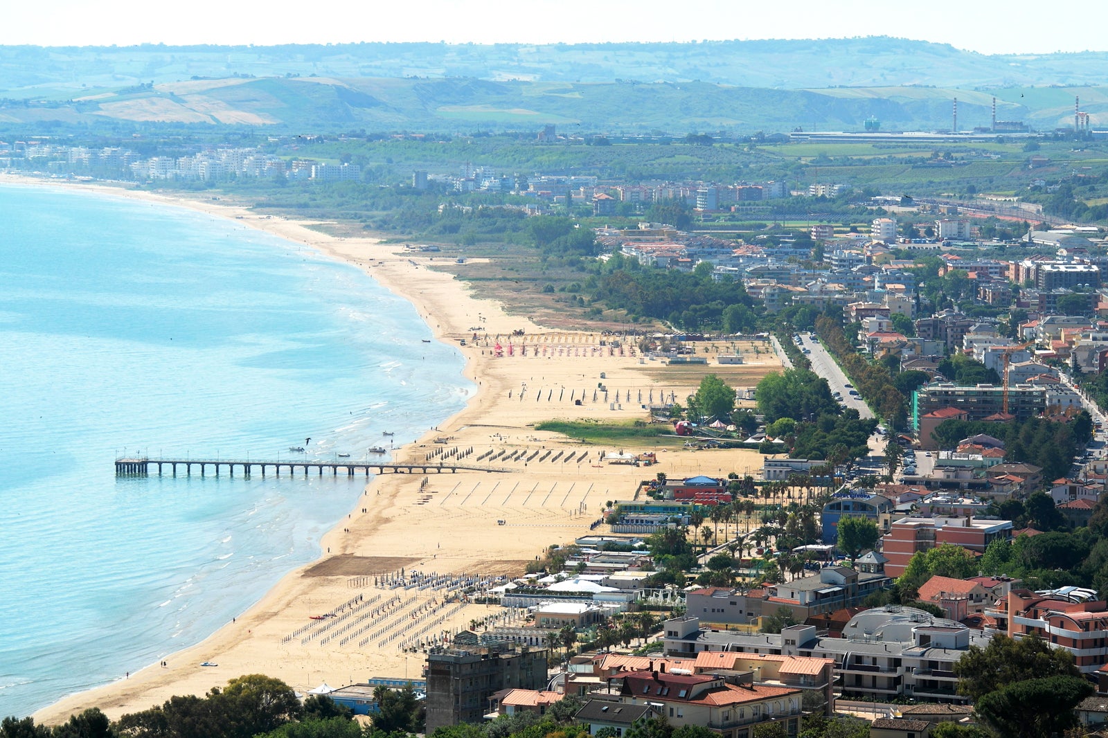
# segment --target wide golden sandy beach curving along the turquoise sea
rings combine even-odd
[[[110,685],[40,710],[34,716],[39,721],[57,724],[93,706],[117,718],[173,695],[204,694],[243,674],[278,677],[299,691],[324,681],[337,687],[370,677],[419,677],[424,656],[404,646],[472,621],[503,617],[503,612],[447,602],[444,591],[433,587],[389,588],[381,585],[382,575],[401,567],[424,574],[520,574],[546,546],[588,533],[607,501],[632,499],[638,482],[659,471],[679,478],[761,469],[761,457],[753,451],[693,451],[677,439],[635,449],[657,451],[656,467],[603,464],[603,451],[620,449],[582,444],[535,431],[533,424],[551,419],[646,420],[644,404],[670,396],[684,401],[708,372],[735,387],[753,386],[779,368],[768,345],[757,353],[752,345],[709,345],[707,365],[667,366],[642,357],[636,347],[613,348],[599,332],[547,330],[507,315],[501,305],[474,297],[464,283],[434,270],[430,254],[373,238],[326,235],[310,223],[259,216],[225,201],[57,184],[152,205],[184,205],[359,266],[410,300],[440,340],[459,346],[466,357],[465,373],[478,385],[468,407],[437,429],[413,442],[396,439],[406,445],[393,459],[455,461],[497,471],[372,478],[347,519],[324,536],[319,561],[290,572],[233,623],[167,657],[165,666],[135,665],[129,678],[120,675]],[[484,330],[473,330],[479,327]],[[743,353],[746,363],[717,363],[716,353],[735,351]],[[605,530],[599,526],[597,532]],[[332,612],[336,616],[326,621],[312,618]]]

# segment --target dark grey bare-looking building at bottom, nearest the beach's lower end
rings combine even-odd
[[[546,686],[545,648],[502,646],[435,648],[427,657],[427,732],[481,722],[493,693]]]

